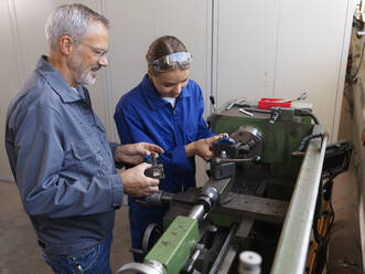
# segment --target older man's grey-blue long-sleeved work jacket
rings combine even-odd
[[[124,186],[88,92],[73,91],[42,56],[10,104],[6,148],[24,210],[47,254],[110,235]]]

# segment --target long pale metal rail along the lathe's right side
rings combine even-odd
[[[323,133],[315,125],[313,134]],[[275,255],[271,274],[304,273],[328,137],[312,139],[303,159]]]

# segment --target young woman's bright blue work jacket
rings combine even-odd
[[[195,161],[194,157],[186,157],[185,146],[213,136],[203,113],[203,94],[194,81],[189,80],[173,108],[146,74],[138,86],[120,98],[114,118],[121,144],[148,141],[164,149],[160,158],[165,179],[159,188],[178,192],[195,186]]]

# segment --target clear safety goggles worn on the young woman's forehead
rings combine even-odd
[[[179,67],[181,70],[187,70],[190,68],[190,64],[193,60],[193,56],[189,52],[176,52],[171,53],[169,55],[162,56],[155,61],[153,61],[150,65],[153,67],[157,72],[167,72],[167,71],[173,71]]]

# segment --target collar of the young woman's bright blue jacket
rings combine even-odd
[[[190,82],[187,82],[187,85],[181,91],[180,95],[176,97],[176,101],[181,101],[183,98],[192,96],[192,92],[189,88],[189,83]],[[152,82],[149,80],[148,74],[144,75],[141,85],[142,85],[142,94],[153,110],[155,110],[161,106],[170,104],[168,101],[163,99],[159,95],[159,92],[155,89]]]

